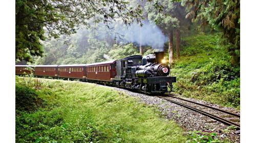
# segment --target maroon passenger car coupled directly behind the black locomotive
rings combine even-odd
[[[116,76],[116,61],[87,64],[87,79],[112,81]]]

